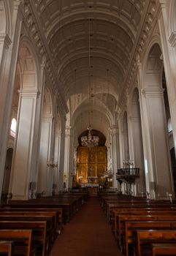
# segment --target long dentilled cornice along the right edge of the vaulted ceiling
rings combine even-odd
[[[137,74],[137,67],[139,65],[139,59],[144,51],[146,42],[150,37],[150,34],[153,31],[154,26],[156,25],[157,17],[159,14],[159,2],[158,1],[149,1],[148,8],[144,15],[144,20],[139,31],[139,36],[137,39],[137,44],[134,50],[134,54],[131,59],[131,65],[129,67],[129,72],[126,75],[126,80],[123,84],[123,92],[120,96],[118,108],[122,108],[124,102],[126,102],[126,97],[129,92],[129,88],[132,86],[134,76]]]

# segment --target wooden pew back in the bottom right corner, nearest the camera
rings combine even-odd
[[[152,256],[176,255],[176,244],[152,244]]]

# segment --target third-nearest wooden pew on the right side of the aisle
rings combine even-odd
[[[176,221],[131,221],[125,222],[125,233],[123,234],[123,252],[129,256],[129,246],[135,244],[135,233],[137,230],[173,230],[176,228]]]

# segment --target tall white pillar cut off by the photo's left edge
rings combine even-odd
[[[22,24],[19,5],[20,1],[14,1],[14,10],[12,10],[12,35],[0,31],[0,195],[7,153],[7,139],[9,136],[15,72]]]

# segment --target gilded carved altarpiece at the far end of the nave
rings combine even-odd
[[[107,148],[97,146],[77,148],[77,183],[78,184],[104,184],[103,174],[107,170]]]

